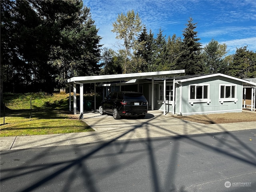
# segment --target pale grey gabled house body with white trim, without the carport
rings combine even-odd
[[[242,112],[243,88],[246,87],[252,93],[251,110],[255,111],[256,82],[220,73],[158,77],[153,81],[153,89],[151,78],[132,79],[102,86],[106,87],[106,94],[120,88],[122,91],[142,92],[150,109],[178,115]]]

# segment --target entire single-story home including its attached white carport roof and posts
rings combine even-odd
[[[184,70],[74,77],[67,84],[74,88],[76,114],[76,84],[80,85],[80,114],[83,109],[83,85],[102,83],[103,98],[113,91],[142,92],[149,110],[178,115],[242,112],[243,88],[251,91],[251,110],[255,111],[256,82],[216,73],[174,76]],[[172,77],[171,77],[172,76]],[[71,91],[70,91],[71,92]],[[70,97],[71,98],[71,97]],[[94,109],[96,109],[94,102]],[[71,99],[70,99],[71,110]]]

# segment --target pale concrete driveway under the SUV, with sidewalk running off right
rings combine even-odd
[[[100,115],[98,112],[84,114],[84,122],[106,138],[124,140],[148,137],[202,134],[234,130],[254,129],[255,122],[235,124],[205,125],[163,115],[160,110],[148,111],[144,119],[121,118],[115,120],[111,115]]]

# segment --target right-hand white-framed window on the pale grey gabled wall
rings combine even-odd
[[[237,101],[236,85],[220,84],[220,102],[223,101]]]

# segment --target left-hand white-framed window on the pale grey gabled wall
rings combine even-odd
[[[210,85],[193,84],[189,85],[189,102],[210,102]]]

